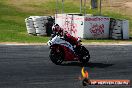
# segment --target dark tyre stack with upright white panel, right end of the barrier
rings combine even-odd
[[[129,39],[129,21],[111,19],[110,38],[112,39]]]

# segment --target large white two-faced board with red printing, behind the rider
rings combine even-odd
[[[56,14],[55,23],[74,37],[108,38],[110,18],[102,16],[80,16]]]

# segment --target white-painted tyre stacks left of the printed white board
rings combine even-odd
[[[49,21],[49,19],[52,19],[52,21]],[[51,30],[49,22],[52,27],[53,18],[50,16],[30,16],[25,19],[25,22],[28,34],[44,36]]]

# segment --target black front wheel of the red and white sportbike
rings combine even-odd
[[[61,50],[50,50],[50,55],[49,55],[51,61],[56,64],[56,65],[60,65],[64,58],[63,58],[63,52]]]

